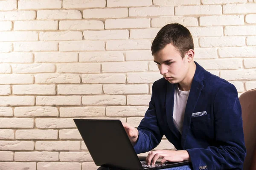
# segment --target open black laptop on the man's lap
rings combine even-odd
[[[120,120],[74,119],[74,122],[97,166],[122,170],[157,170],[189,164],[188,161],[145,164],[135,153]]]

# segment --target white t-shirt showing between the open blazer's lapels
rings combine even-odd
[[[189,90],[190,91],[190,90]],[[189,91],[180,91],[178,85],[176,85],[174,93],[174,105],[173,105],[173,122],[177,129],[182,133],[184,114],[186,108],[186,102],[189,97]]]

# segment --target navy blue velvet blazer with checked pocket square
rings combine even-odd
[[[242,170],[246,149],[236,88],[195,64],[182,135],[172,119],[175,84],[162,78],[153,84],[134,149],[137,154],[150,151],[165,135],[177,150],[188,151],[193,170]]]

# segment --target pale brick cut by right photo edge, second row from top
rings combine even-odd
[[[255,13],[255,3],[226,4],[223,6],[223,14]]]

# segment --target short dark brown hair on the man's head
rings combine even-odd
[[[183,58],[189,49],[194,50],[194,42],[188,28],[179,23],[167,24],[157,33],[151,45],[152,55],[171,43]]]

